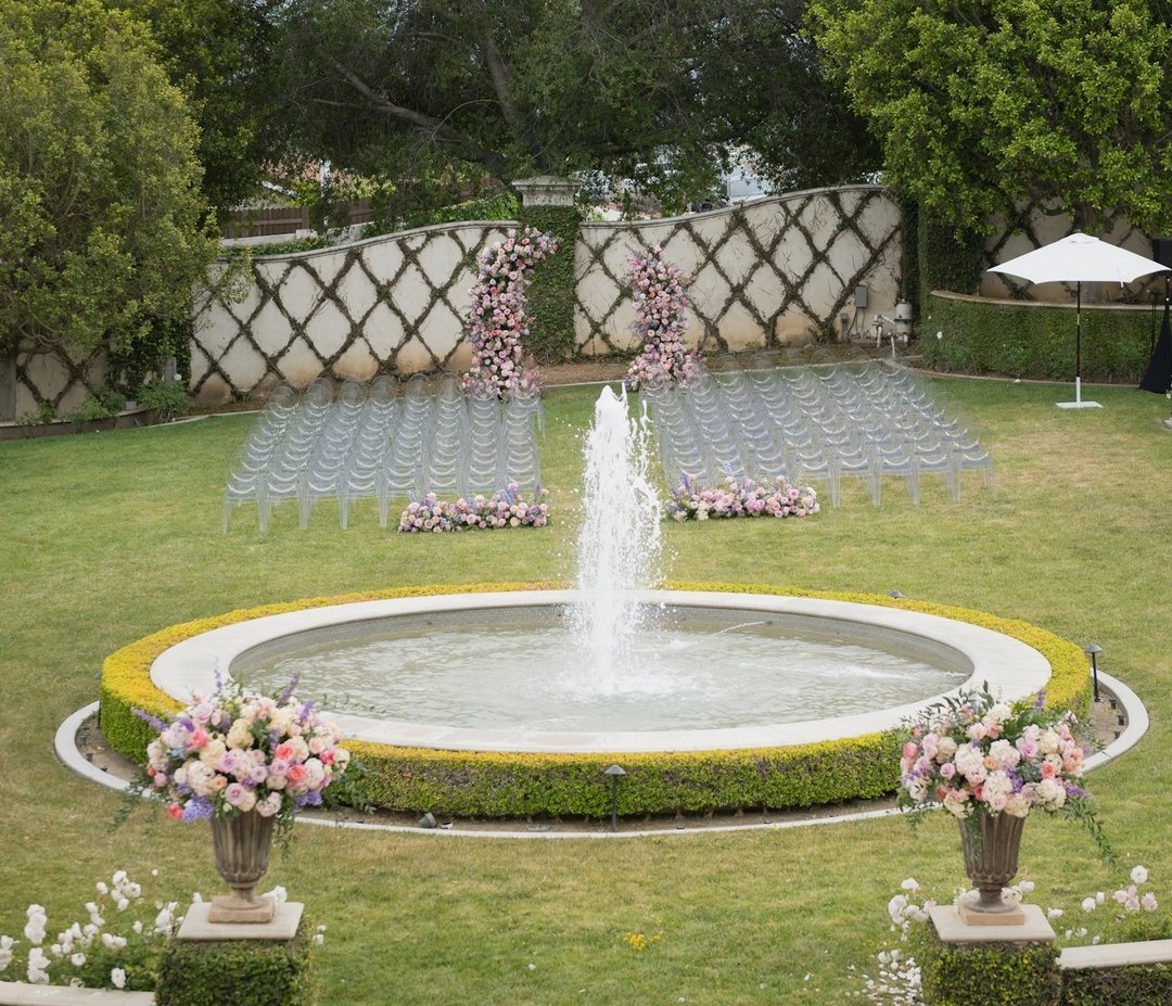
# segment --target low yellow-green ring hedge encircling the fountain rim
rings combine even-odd
[[[563,586],[541,583],[408,587],[308,598],[175,625],[107,658],[102,668],[101,727],[110,747],[144,762],[154,732],[134,711],[165,718],[179,708],[151,684],[151,662],[179,640],[223,625],[361,600]],[[908,598],[740,584],[666,586],[847,600],[969,621],[1020,639],[1050,661],[1048,705],[1081,711],[1086,702],[1089,675],[1083,651],[1024,621]],[[899,746],[900,739],[892,732],[793,747],[654,754],[502,754],[352,742],[347,747],[366,767],[367,776],[360,788],[349,791],[349,797],[352,802],[389,810],[430,810],[462,817],[606,817],[611,813],[611,788],[602,772],[620,762],[627,772],[619,788],[619,811],[624,815],[813,807],[893,793],[899,782]]]

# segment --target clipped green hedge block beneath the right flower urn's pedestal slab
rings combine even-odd
[[[909,936],[927,1006],[1058,1006],[1054,944],[947,944],[931,926]]]

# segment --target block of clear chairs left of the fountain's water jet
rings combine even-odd
[[[302,392],[281,385],[229,463],[224,530],[244,503],[257,504],[266,530],[281,503],[297,503],[307,528],[318,503],[336,501],[345,529],[360,499],[376,502],[386,526],[395,498],[491,496],[511,483],[536,492],[539,430],[538,392],[468,396],[450,373],[402,385],[320,378]]]

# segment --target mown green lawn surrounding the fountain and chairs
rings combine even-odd
[[[1163,399],[1095,388],[1102,410],[1054,407],[1068,389],[941,380],[984,424],[997,497],[975,477],[954,503],[860,487],[804,521],[666,528],[674,579],[886,593],[1023,618],[1103,648],[1101,667],[1147,703],[1143,745],[1090,780],[1130,868],[1172,896],[1170,736],[1172,441]],[[96,698],[102,659],[177,621],[377,587],[567,575],[581,436],[595,389],[546,393],[541,530],[400,536],[374,509],[311,528],[278,508],[265,533],[241,508],[220,532],[223,475],[248,419],[0,444],[0,933],[39,902],[56,932],[95,881],[159,870],[169,897],[219,890],[203,825],[138,811],[63,769],[53,733]],[[1069,396],[1069,395],[1067,395]],[[1113,890],[1077,825],[1031,818],[1022,872],[1054,904]],[[931,820],[600,842],[454,841],[300,828],[268,879],[328,925],[318,973],[333,1004],[838,1002],[887,936],[904,877],[947,898],[963,881],[955,825]],[[646,938],[639,950],[631,934]],[[533,965],[532,967],[530,965]]]

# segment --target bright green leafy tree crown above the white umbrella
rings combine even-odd
[[[1172,41],[1147,0],[812,0],[886,178],[958,226],[1030,204],[1172,223]]]

